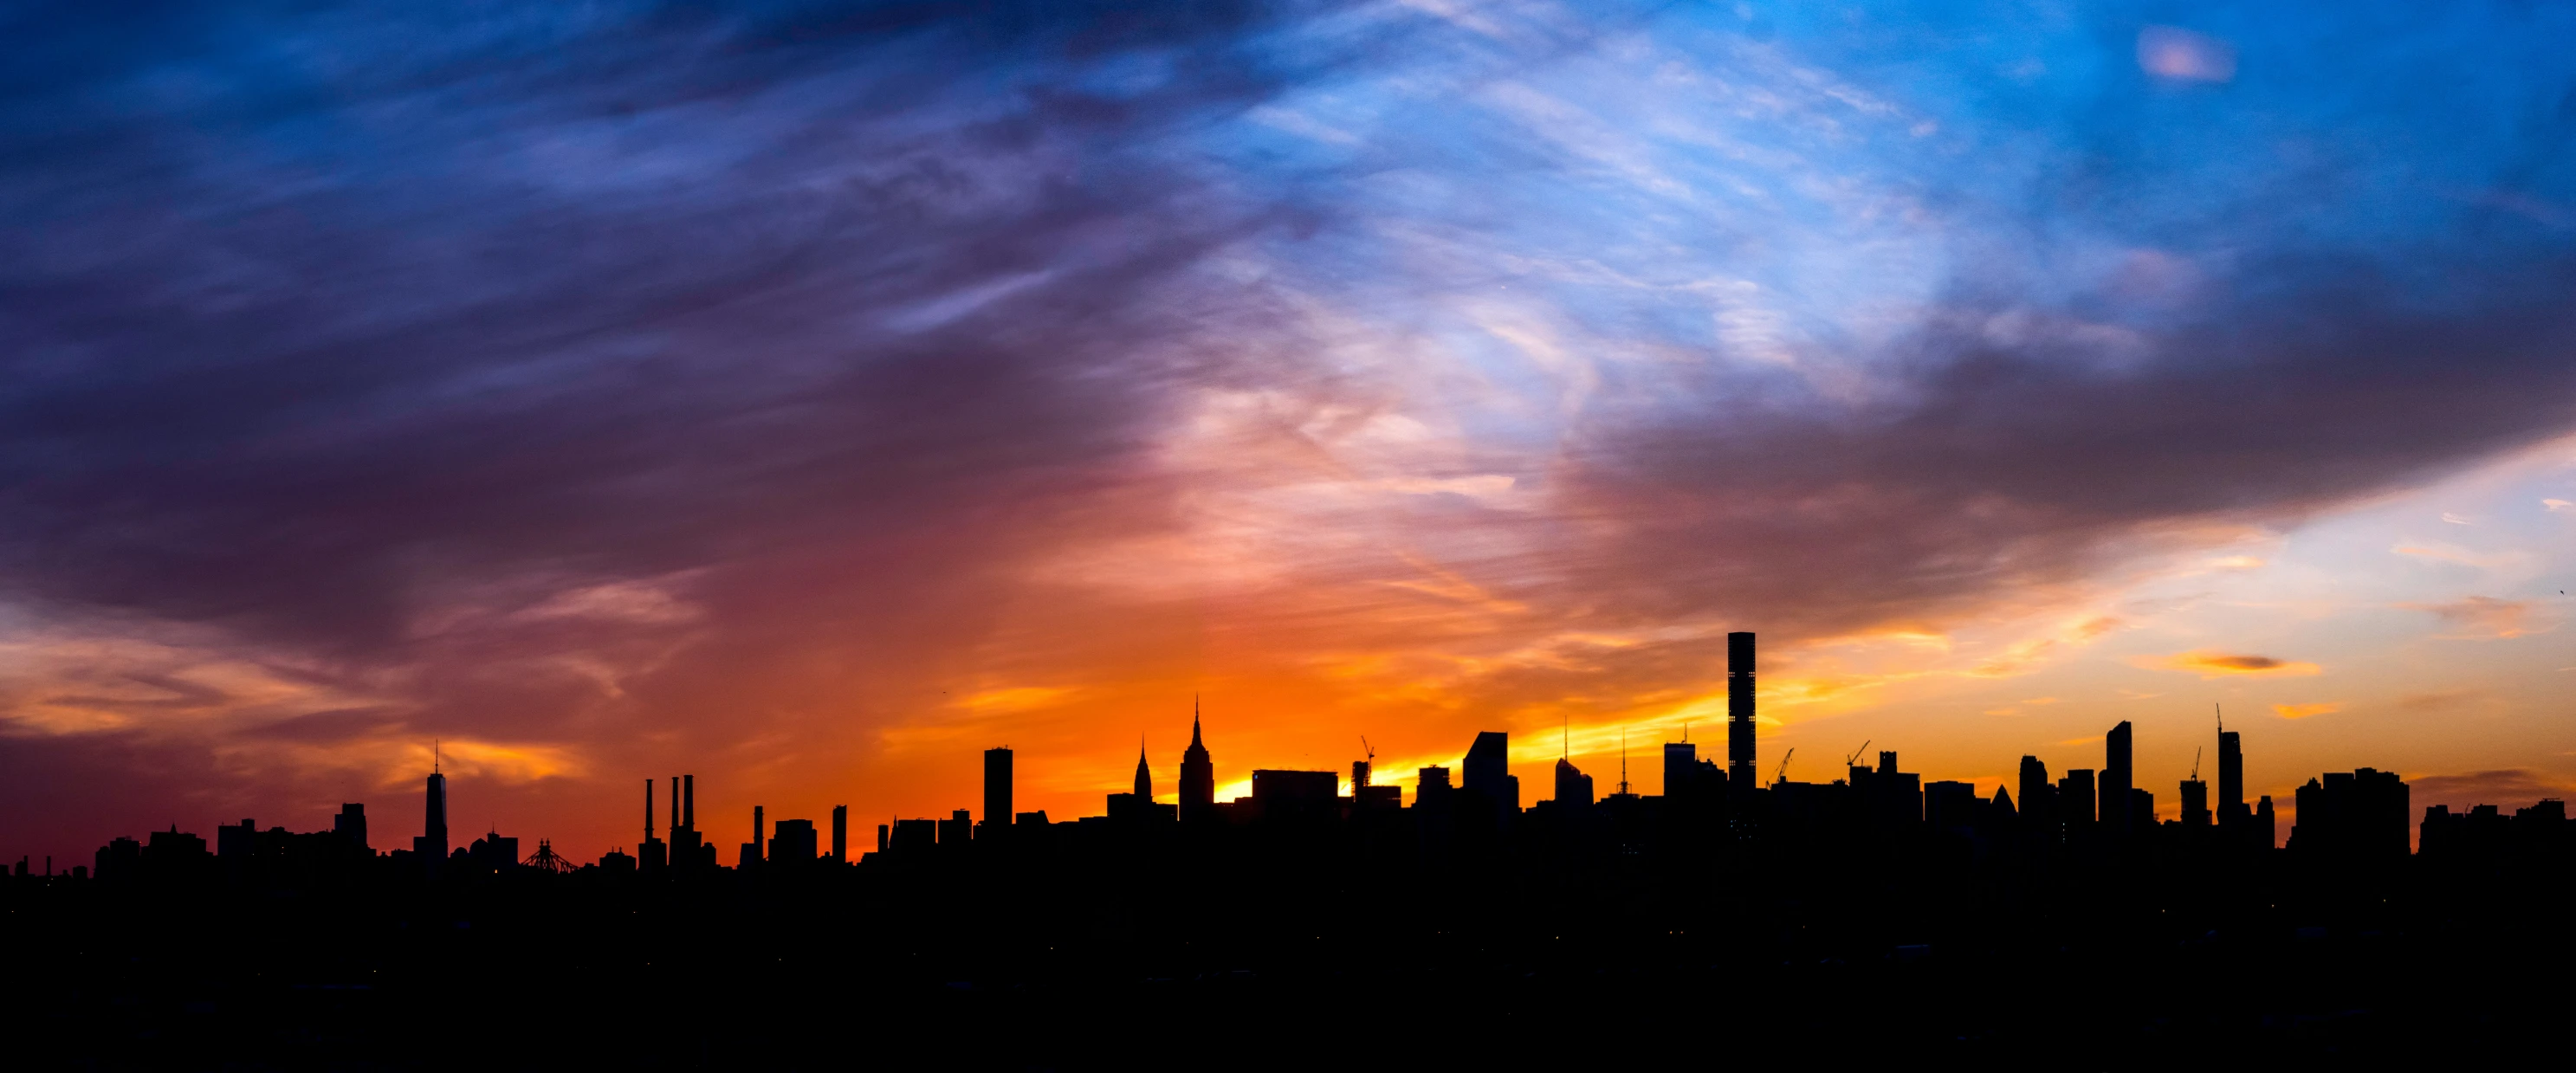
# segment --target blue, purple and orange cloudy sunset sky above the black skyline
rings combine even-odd
[[[0,23],[10,859],[1659,793],[1728,630],[1765,780],[2576,790],[2563,8]]]

